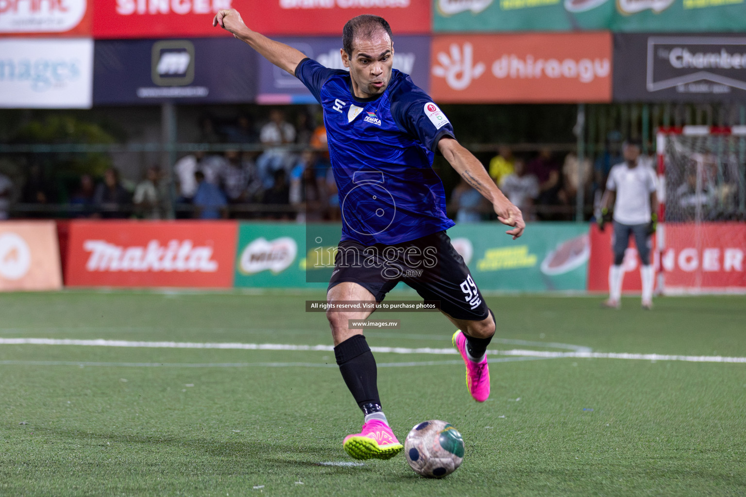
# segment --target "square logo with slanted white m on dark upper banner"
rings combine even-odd
[[[151,76],[158,86],[186,86],[194,80],[194,45],[186,39],[153,44]]]

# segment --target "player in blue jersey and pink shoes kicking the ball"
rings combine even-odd
[[[342,63],[327,69],[295,48],[247,28],[236,10],[220,10],[213,26],[230,31],[280,69],[298,77],[324,109],[334,180],[342,211],[342,240],[334,260],[327,303],[380,302],[398,282],[424,300],[440,302],[454,326],[452,341],[466,364],[466,384],[477,402],[489,396],[486,347],[495,314],[486,306],[445,230],[445,191],[433,171],[442,156],[492,203],[513,239],[525,224],[521,211],[490,179],[479,160],[457,142],[448,118],[408,75],[392,69],[389,23],[357,16],[342,30]],[[403,449],[383,414],[376,364],[362,329],[372,311],[327,312],[334,355],[357,405],[360,433],[342,446],[353,458],[389,459]]]

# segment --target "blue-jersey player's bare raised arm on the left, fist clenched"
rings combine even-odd
[[[234,37],[248,43],[262,57],[295,76],[295,68],[306,56],[284,43],[265,37],[256,31],[251,31],[241,19],[236,9],[220,10],[213,18],[213,26],[220,26],[233,34]]]

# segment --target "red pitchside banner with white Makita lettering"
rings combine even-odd
[[[65,284],[233,286],[233,221],[72,221]]]

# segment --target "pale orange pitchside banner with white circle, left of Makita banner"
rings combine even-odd
[[[54,221],[0,222],[0,291],[60,288]]]

